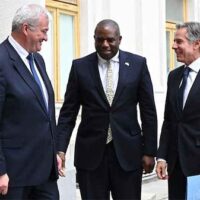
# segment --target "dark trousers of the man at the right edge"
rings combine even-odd
[[[186,199],[187,178],[183,174],[177,159],[175,168],[168,180],[169,200],[185,200]]]

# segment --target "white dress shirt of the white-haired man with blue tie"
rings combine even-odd
[[[30,73],[32,74],[31,72],[31,69],[30,69],[30,65],[28,63],[28,59],[27,59],[27,56],[28,56],[28,52],[12,37],[12,35],[10,35],[8,37],[8,41],[10,42],[10,44],[14,47],[14,49],[17,51],[18,55],[20,56],[20,58],[23,60],[24,64],[26,65],[26,67],[28,68],[28,70],[30,71]],[[44,98],[45,98],[45,101],[46,101],[46,105],[48,107],[48,93],[47,93],[47,89],[46,89],[46,86],[44,84],[44,81],[36,67],[36,64],[35,64],[35,61],[34,61],[34,65],[35,65],[35,70],[36,70],[36,73],[40,79],[40,82],[41,82],[41,85],[42,85],[42,90],[43,90],[43,94],[44,94]]]

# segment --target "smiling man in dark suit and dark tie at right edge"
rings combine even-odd
[[[160,179],[168,178],[170,200],[186,199],[187,177],[200,174],[200,23],[186,22],[176,28],[172,48],[184,65],[168,76],[156,167]],[[184,74],[185,89],[180,92]]]

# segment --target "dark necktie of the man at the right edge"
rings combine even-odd
[[[186,87],[186,84],[187,84],[187,78],[188,78],[189,73],[190,73],[190,68],[185,67],[184,70],[183,70],[182,84],[181,84],[179,91],[178,91],[179,105],[180,105],[181,110],[183,110],[183,95],[184,95],[184,91],[185,91],[185,87]]]

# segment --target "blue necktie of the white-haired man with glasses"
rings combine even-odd
[[[41,95],[43,97],[43,101],[44,101],[45,107],[48,110],[47,103],[46,103],[46,100],[45,100],[45,97],[44,97],[44,93],[43,93],[43,89],[42,89],[42,84],[41,84],[40,79],[39,79],[39,77],[37,75],[37,72],[35,70],[35,66],[34,66],[34,62],[33,62],[33,55],[30,53],[27,56],[27,59],[28,59],[28,62],[29,62],[30,68],[31,68],[31,72],[32,72],[33,78],[35,79],[35,81],[37,82],[37,84],[38,84],[38,86],[40,88],[40,92],[41,92]]]

